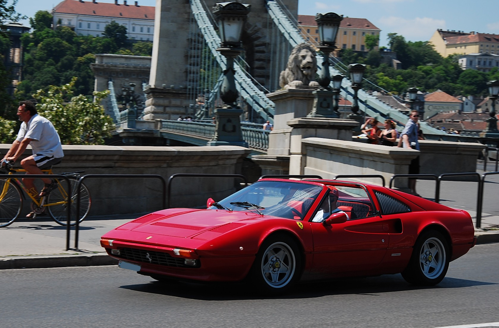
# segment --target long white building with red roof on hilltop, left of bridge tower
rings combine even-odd
[[[68,26],[80,35],[101,36],[106,25],[116,21],[127,28],[129,39],[152,42],[154,11],[155,7],[139,1],[63,0],[52,9],[52,15],[54,26]]]

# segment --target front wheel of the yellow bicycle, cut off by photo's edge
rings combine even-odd
[[[0,180],[0,227],[11,224],[22,209],[22,196],[19,188],[11,181]]]

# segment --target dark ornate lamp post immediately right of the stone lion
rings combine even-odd
[[[315,21],[319,30],[320,42],[317,49],[322,52],[322,70],[317,79],[320,85],[318,90],[312,92],[315,96],[312,111],[307,117],[330,117],[338,118],[337,110],[333,109],[332,99],[334,93],[329,88],[331,77],[329,74],[329,54],[336,48],[335,41],[343,15],[334,12],[325,14],[317,13]]]

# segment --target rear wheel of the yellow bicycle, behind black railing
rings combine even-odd
[[[74,178],[69,178],[71,185],[71,223],[70,225],[76,224],[76,182],[78,180]],[[52,219],[59,223],[60,225],[67,225],[67,182],[64,180],[59,181],[57,189],[54,189],[48,194],[47,209],[48,214]],[[80,185],[80,213],[79,222],[83,221],[88,212],[90,211],[90,193],[84,184]],[[50,205],[53,204],[53,205]]]

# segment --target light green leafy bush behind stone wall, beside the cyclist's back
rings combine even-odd
[[[63,144],[99,145],[115,129],[111,117],[104,115],[100,105],[109,91],[94,92],[93,97],[74,95],[76,78],[62,86],[50,86],[47,92],[38,90],[34,96],[41,116],[57,129]]]

